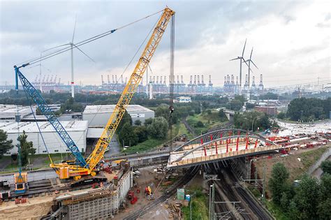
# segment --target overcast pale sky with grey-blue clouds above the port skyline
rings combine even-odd
[[[121,27],[165,6],[175,10],[175,75],[212,75],[223,85],[239,74],[242,53],[267,87],[331,80],[330,1],[1,1],[0,85],[13,84],[13,65],[47,48],[69,43],[77,16],[75,42]],[[101,75],[121,75],[160,14],[74,50],[75,84],[100,85]],[[150,63],[154,75],[169,75],[170,27]],[[144,45],[145,46],[145,45]],[[140,50],[141,52],[141,50]],[[133,71],[135,62],[124,75]],[[70,80],[70,52],[42,62],[42,73]],[[21,69],[30,81],[39,67]],[[243,79],[247,74],[243,67]],[[145,83],[145,80],[144,80]],[[244,84],[244,82],[242,83]]]

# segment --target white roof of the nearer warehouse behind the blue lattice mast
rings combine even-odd
[[[20,122],[17,126],[17,122],[0,122],[0,129],[7,133],[17,133],[18,131],[25,131],[27,133],[39,132],[38,126],[41,132],[54,132],[54,128],[50,122]],[[66,131],[86,131],[87,121],[61,121],[62,126]]]

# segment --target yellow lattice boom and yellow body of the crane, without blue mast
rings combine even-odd
[[[142,52],[138,64],[135,66],[112,115],[110,115],[110,119],[108,120],[101,137],[98,138],[98,142],[96,142],[93,152],[86,160],[86,166],[81,167],[71,163],[50,164],[50,167],[55,168],[60,179],[73,177],[75,180],[78,180],[84,175],[96,175],[98,163],[103,159],[103,154],[105,154],[105,150],[110,144],[110,140],[112,140],[112,136],[115,134],[117,126],[119,126],[119,122],[121,122],[124,112],[142,80],[147,65],[149,64],[149,61],[151,61],[172,15],[175,15],[175,11],[170,8],[167,7],[163,10],[161,17],[152,32],[152,36],[149,38],[145,50]]]

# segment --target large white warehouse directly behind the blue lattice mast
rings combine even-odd
[[[28,135],[27,140],[34,142],[36,154],[47,154],[41,138],[41,133],[39,133],[36,123],[38,123],[38,126],[41,129],[41,133],[43,134],[43,138],[50,154],[70,152],[50,122],[20,122],[18,126],[17,122],[0,122],[0,129],[6,131],[8,139],[13,140],[13,145],[17,144],[18,135],[25,131]],[[78,146],[80,152],[85,152],[87,121],[61,121],[61,124]],[[8,154],[13,153],[17,153],[17,147],[13,147],[13,149],[10,149],[10,152],[8,152]]]

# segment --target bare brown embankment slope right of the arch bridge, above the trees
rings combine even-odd
[[[331,143],[329,142],[325,147],[331,147]],[[316,154],[314,151],[318,150],[319,148],[320,147],[299,149],[297,151],[293,150],[290,152],[290,154],[288,154],[288,156],[272,156],[271,159],[268,159],[267,156],[263,156],[258,158],[257,161],[254,161],[253,165],[256,166],[258,170],[259,178],[263,178],[263,166],[265,166],[266,186],[268,186],[268,181],[272,172],[272,166],[274,166],[275,163],[284,163],[284,166],[288,168],[288,171],[290,172],[290,181],[293,182],[295,179],[300,177],[300,175],[307,171],[309,166],[305,166],[305,164],[312,164],[316,161]],[[304,155],[305,152],[311,152],[311,154]],[[299,161],[299,159],[301,161]],[[267,193],[269,193],[268,190]]]

